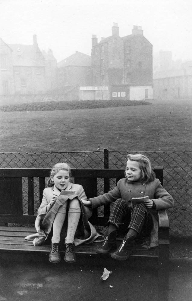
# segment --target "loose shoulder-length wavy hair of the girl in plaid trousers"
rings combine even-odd
[[[146,156],[142,154],[128,154],[127,160],[139,162],[139,168],[141,170],[141,182],[148,183],[156,178],[155,172],[151,168],[151,162]]]

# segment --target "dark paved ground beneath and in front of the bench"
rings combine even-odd
[[[44,260],[46,259],[46,261]],[[4,262],[0,272],[0,301],[154,301],[157,300],[156,261],[132,259],[106,264],[78,256],[75,264],[52,264],[18,258]],[[100,280],[103,269],[112,271]],[[169,301],[192,300],[192,260],[171,259]],[[162,300],[163,301],[163,300]]]

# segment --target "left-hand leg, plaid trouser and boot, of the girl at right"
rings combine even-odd
[[[102,246],[96,250],[97,253],[107,254],[112,250],[117,249],[116,230],[121,225],[122,219],[126,215],[127,210],[127,203],[124,200],[116,200],[109,216],[108,235],[106,236]]]

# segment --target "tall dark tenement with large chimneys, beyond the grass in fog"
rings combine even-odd
[[[109,99],[152,98],[152,48],[140,26],[134,26],[131,35],[120,37],[118,24],[113,23],[112,36],[99,43],[93,35],[93,86],[108,86]]]

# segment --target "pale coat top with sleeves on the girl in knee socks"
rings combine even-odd
[[[87,197],[85,194],[85,191],[83,189],[83,186],[79,184],[73,184],[70,183],[68,184],[68,187],[65,189],[65,191],[75,191],[75,194],[78,195],[80,200],[82,201],[87,201]],[[37,215],[46,213],[47,212],[47,205],[52,201],[53,197],[58,197],[60,194],[60,191],[57,189],[57,187],[54,185],[52,187],[47,187],[43,190],[43,197],[42,197],[42,203],[37,211]],[[85,210],[87,212],[87,217],[88,219],[92,215],[92,210],[85,206]]]

